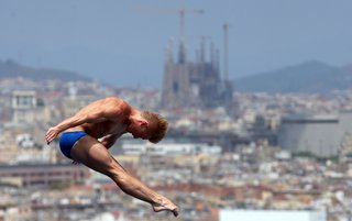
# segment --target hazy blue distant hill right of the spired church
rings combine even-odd
[[[234,80],[237,91],[327,92],[352,89],[352,66],[332,67],[307,62]]]

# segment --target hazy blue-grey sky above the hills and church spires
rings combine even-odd
[[[231,79],[311,59],[352,63],[351,0],[0,0],[0,59],[117,87],[161,87],[170,37],[177,51],[182,2],[190,60],[207,36],[223,69],[222,24],[230,24]]]

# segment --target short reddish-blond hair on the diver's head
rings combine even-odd
[[[148,139],[148,141],[152,143],[162,141],[168,128],[167,120],[162,115],[150,111],[143,111],[142,115],[150,124],[152,124],[152,128],[154,128],[152,136]]]

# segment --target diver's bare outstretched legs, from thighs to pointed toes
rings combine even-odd
[[[96,139],[82,136],[76,142],[70,154],[76,162],[109,176],[125,194],[150,202],[154,211],[169,210],[175,216],[178,214],[177,207],[170,200],[130,175]]]

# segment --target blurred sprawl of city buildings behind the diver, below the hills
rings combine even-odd
[[[160,106],[160,90],[58,79],[3,78],[0,85],[0,220],[169,220],[172,214],[154,213],[108,177],[72,164],[58,141],[47,146],[43,137],[53,123],[117,91],[135,107],[157,110],[172,125],[158,144],[125,134],[110,153],[138,179],[175,199],[179,220],[226,221],[239,209],[254,220],[253,209],[271,220],[298,211],[312,216],[310,221],[351,218],[350,90],[237,93],[239,114],[232,118],[223,108],[167,110]],[[282,130],[288,145],[280,145]]]

